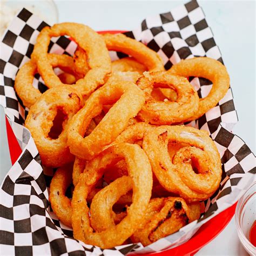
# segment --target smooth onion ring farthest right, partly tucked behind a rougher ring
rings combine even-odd
[[[181,60],[173,65],[168,72],[184,77],[203,77],[211,80],[213,83],[209,94],[205,98],[200,99],[198,111],[186,121],[198,119],[208,110],[212,109],[212,107],[216,106],[230,87],[230,76],[228,76],[225,66],[212,58],[197,57]]]

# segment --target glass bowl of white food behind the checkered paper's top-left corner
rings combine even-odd
[[[33,14],[42,18],[43,21],[49,25],[58,23],[58,10],[54,1],[41,0],[41,1],[6,1],[0,0],[0,36],[4,33],[9,23],[19,10],[26,8]]]

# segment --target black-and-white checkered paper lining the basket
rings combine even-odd
[[[22,154],[6,174],[1,186],[1,254],[17,255],[132,255],[176,247],[192,237],[199,227],[233,205],[255,176],[255,157],[248,146],[230,132],[237,123],[231,89],[217,106],[196,122],[187,125],[210,132],[221,156],[223,176],[219,190],[205,201],[205,214],[180,231],[143,247],[141,244],[117,246],[108,250],[86,245],[73,238],[72,230],[60,223],[49,204],[49,186],[55,170],[46,169],[30,132],[22,126],[28,113],[14,91],[17,71],[30,59],[39,31],[46,23],[26,9],[21,10],[6,30],[0,52],[0,104],[14,130]],[[169,69],[181,59],[207,56],[223,62],[204,12],[196,1],[165,14],[144,19],[137,29],[125,33],[158,52]],[[76,43],[66,37],[52,38],[51,53],[72,55]],[[112,59],[122,58],[111,52]],[[211,82],[190,79],[200,97],[211,90]],[[35,76],[33,85],[46,90]]]

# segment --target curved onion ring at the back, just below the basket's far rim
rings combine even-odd
[[[109,51],[120,51],[132,56],[137,62],[143,64],[149,71],[164,70],[163,62],[157,52],[145,44],[136,41],[124,34],[102,35]]]

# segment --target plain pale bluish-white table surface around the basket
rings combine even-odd
[[[59,22],[84,23],[95,30],[132,30],[145,17],[167,12],[187,1],[55,2]],[[233,132],[255,153],[255,2],[198,2],[230,73],[239,118]],[[2,153],[0,156],[3,160]],[[248,255],[238,239],[234,218],[218,237],[196,255]]]

